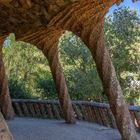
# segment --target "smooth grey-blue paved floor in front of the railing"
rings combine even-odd
[[[88,122],[15,118],[8,125],[16,140],[120,140],[117,130]]]

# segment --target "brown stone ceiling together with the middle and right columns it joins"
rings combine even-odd
[[[36,45],[47,57],[66,121],[74,122],[71,101],[58,60],[57,44],[65,30],[79,36],[90,49],[123,140],[136,132],[115,70],[104,47],[103,24],[108,9],[121,0],[0,0],[0,41],[9,32]],[[61,94],[62,92],[62,94]]]

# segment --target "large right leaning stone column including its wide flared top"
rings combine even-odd
[[[104,7],[105,3],[106,7]],[[111,1],[104,1],[103,5],[96,7],[98,10],[92,8],[96,4],[93,1],[82,1],[79,5],[73,7],[70,5],[72,10],[69,10],[70,7],[66,8],[49,24],[72,31],[86,44],[96,63],[104,93],[109,100],[122,139],[137,139],[114,66],[104,45],[104,16],[112,4]]]

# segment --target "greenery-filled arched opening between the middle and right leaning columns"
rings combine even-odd
[[[72,32],[59,39],[59,58],[73,100],[107,101],[90,51]]]

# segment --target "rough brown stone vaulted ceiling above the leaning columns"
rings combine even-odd
[[[0,0],[0,36],[48,26],[81,30],[96,24],[114,3],[121,0]],[[78,31],[77,31],[78,32]]]

